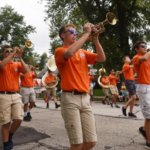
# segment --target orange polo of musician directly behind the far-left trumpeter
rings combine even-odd
[[[23,73],[20,73],[21,86],[33,87],[33,79],[36,75],[33,72],[28,72],[23,77],[21,77],[21,75],[23,75]]]

